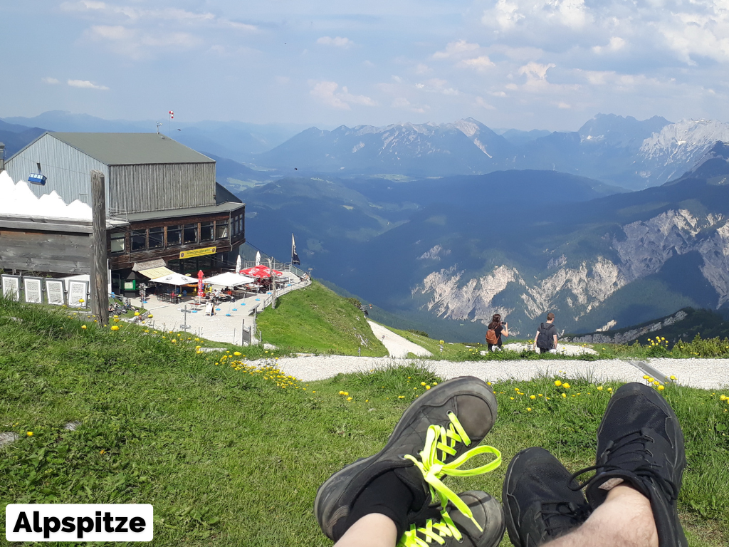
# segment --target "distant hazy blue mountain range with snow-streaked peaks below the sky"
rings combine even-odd
[[[339,176],[550,169],[642,190],[674,179],[717,141],[729,141],[729,124],[597,115],[574,132],[498,134],[469,117],[442,124],[309,128],[253,161],[282,173]]]

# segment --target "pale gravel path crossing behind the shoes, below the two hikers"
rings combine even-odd
[[[312,356],[282,357],[278,366],[302,381],[321,380],[338,373],[370,371],[413,360],[391,357]],[[529,380],[540,374],[564,373],[568,377],[591,377],[593,381],[643,381],[643,371],[627,361],[419,361],[443,379],[472,375],[496,381]],[[729,387],[729,360],[726,359],[651,359],[649,363],[666,376],[674,375],[679,384],[704,389]]]

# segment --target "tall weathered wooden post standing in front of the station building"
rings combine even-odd
[[[109,325],[109,276],[106,257],[106,187],[104,173],[91,171],[91,313]]]

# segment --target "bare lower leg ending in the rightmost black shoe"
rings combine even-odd
[[[658,547],[650,501],[630,486],[615,486],[585,524],[546,546]]]

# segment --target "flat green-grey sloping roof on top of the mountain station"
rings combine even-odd
[[[158,133],[50,133],[107,166],[149,163],[214,163]]]

